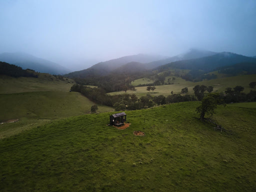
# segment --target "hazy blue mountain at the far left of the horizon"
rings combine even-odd
[[[70,71],[57,63],[21,52],[0,53],[0,61],[50,74],[65,74]]]

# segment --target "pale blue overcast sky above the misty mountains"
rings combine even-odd
[[[0,0],[0,53],[74,70],[189,48],[256,55],[256,0]]]

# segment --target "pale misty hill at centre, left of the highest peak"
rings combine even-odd
[[[123,56],[120,58],[99,62],[84,70],[70,72],[66,76],[70,78],[102,76],[102,75],[109,74],[110,71],[113,71],[114,69],[117,69],[129,62],[147,63],[153,60],[161,59],[163,57],[164,56],[148,55],[148,54],[135,54],[135,55]]]

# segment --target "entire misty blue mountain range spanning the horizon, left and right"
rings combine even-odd
[[[171,68],[209,72],[213,69],[242,62],[256,63],[256,56],[248,57],[231,52],[213,52],[192,48],[183,54],[172,57],[149,54],[123,56],[99,62],[89,68],[74,72],[70,72],[70,70],[49,60],[20,52],[0,53],[0,61],[15,64],[23,69],[29,68],[50,74],[65,74],[65,76],[70,78],[93,78],[117,73],[131,74],[151,70],[164,71]],[[239,66],[241,68],[241,64]],[[246,66],[251,68],[254,65],[246,64]],[[246,67],[245,70],[247,70]]]

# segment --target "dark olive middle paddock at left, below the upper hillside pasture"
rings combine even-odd
[[[56,119],[90,113],[94,102],[78,92],[44,91],[0,94],[0,121],[26,117],[29,119]],[[110,107],[98,106],[98,112]]]

